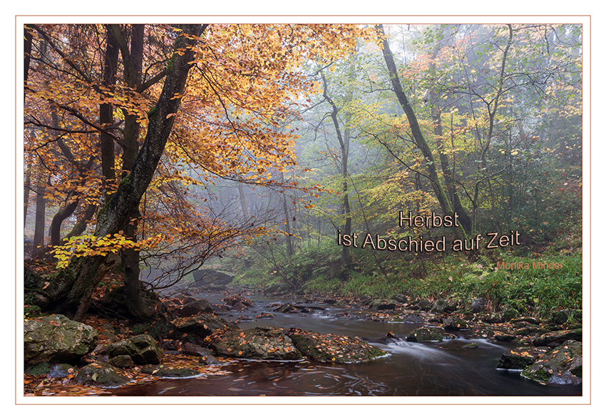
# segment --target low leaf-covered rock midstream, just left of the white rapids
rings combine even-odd
[[[289,329],[287,334],[305,357],[317,362],[367,362],[387,354],[357,337],[319,334],[297,328]]]

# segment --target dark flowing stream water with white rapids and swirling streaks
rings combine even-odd
[[[199,296],[217,303],[220,294]],[[312,313],[280,314],[257,319],[271,312],[269,304],[288,300],[252,297],[251,308],[222,314],[226,319],[248,317],[240,328],[297,327],[322,334],[357,336],[389,352],[386,357],[356,364],[235,361],[222,368],[227,374],[191,379],[158,379],[145,384],[108,389],[113,395],[129,396],[580,396],[582,386],[541,385],[520,377],[519,372],[495,369],[503,352],[513,344],[488,339],[468,339],[458,332],[456,339],[440,343],[412,343],[404,337],[422,324],[373,322],[337,314],[363,315],[354,309],[322,307]],[[386,332],[401,340],[384,342]],[[463,346],[476,342],[475,349]]]

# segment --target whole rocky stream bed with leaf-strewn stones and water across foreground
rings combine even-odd
[[[150,324],[31,317],[24,394],[582,394],[580,312],[487,303],[209,289],[165,298]]]

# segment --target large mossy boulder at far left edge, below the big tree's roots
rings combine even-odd
[[[71,321],[61,314],[24,322],[24,361],[39,363],[78,362],[95,348],[96,329]]]

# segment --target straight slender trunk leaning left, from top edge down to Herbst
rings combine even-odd
[[[404,109],[404,113],[406,113],[406,118],[408,119],[409,124],[411,126],[411,131],[416,147],[418,148],[418,150],[421,150],[423,158],[425,158],[426,160],[428,179],[431,181],[431,188],[433,189],[433,193],[436,194],[436,198],[438,199],[438,203],[440,203],[442,211],[446,215],[452,215],[453,208],[451,202],[450,200],[448,200],[448,195],[446,195],[441,181],[438,178],[438,171],[436,170],[436,160],[433,158],[431,148],[429,148],[429,145],[425,140],[425,137],[423,136],[421,126],[418,125],[414,109],[409,103],[409,99],[406,97],[406,93],[404,93],[404,90],[402,89],[400,78],[398,76],[398,71],[396,68],[396,63],[394,61],[394,55],[389,49],[389,42],[387,41],[383,25],[377,25],[376,29],[379,32],[379,36],[381,36],[381,39],[383,39],[383,57],[387,65],[387,71],[389,72],[391,84],[392,86],[394,86],[394,91],[396,92],[396,96],[398,98],[400,106],[402,107],[402,109]],[[453,230],[460,239],[467,239],[467,234],[461,225],[453,227]]]

